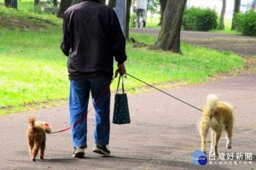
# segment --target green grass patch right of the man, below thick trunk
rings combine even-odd
[[[137,40],[143,40],[146,43],[153,43],[156,37],[148,35],[131,34]],[[138,72],[135,67],[134,71],[131,67],[130,72],[138,77],[148,72],[148,82],[167,82],[177,81],[184,83],[197,83],[207,81],[209,76],[213,74],[230,71],[243,65],[243,60],[236,54],[229,52],[218,52],[212,49],[200,48],[189,44],[182,44],[183,55],[172,54],[163,51],[151,51],[146,48],[138,48],[137,50],[129,50],[131,46],[128,44],[128,56],[131,56],[129,62],[138,67],[143,72]],[[145,61],[147,61],[145,63]],[[145,77],[145,79],[147,79]],[[161,81],[159,81],[161,80]],[[146,81],[146,82],[147,82]]]

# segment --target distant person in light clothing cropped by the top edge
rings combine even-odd
[[[134,0],[135,1],[135,0]],[[133,1],[133,3],[134,3]],[[137,28],[140,28],[141,25],[143,24],[143,27],[146,26],[146,11],[147,11],[147,5],[148,5],[148,0],[136,0],[136,22],[137,22]],[[142,17],[143,23],[141,23],[140,18]]]

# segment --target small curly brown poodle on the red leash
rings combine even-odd
[[[38,122],[34,116],[28,119],[28,128],[26,131],[27,144],[32,161],[36,161],[36,156],[40,150],[40,159],[44,159],[44,150],[46,142],[46,133],[51,129],[48,123]]]

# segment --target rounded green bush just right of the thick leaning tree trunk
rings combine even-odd
[[[186,8],[183,15],[183,30],[210,31],[217,28],[218,16],[210,8]]]

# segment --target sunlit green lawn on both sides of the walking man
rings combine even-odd
[[[69,81],[67,57],[60,49],[61,20],[50,15],[9,11],[3,7],[0,13],[2,23],[10,19],[29,23],[26,29],[24,26],[22,29],[6,29],[6,24],[0,24],[0,114],[58,105],[63,101],[67,103]],[[37,22],[37,17],[42,20]],[[45,20],[50,20],[50,23]],[[40,23],[43,29],[38,29]],[[149,35],[131,34],[131,37],[148,44],[156,40]],[[157,86],[163,82],[205,82],[212,75],[244,65],[243,59],[235,54],[189,44],[182,44],[183,55],[131,46],[127,43],[127,72]],[[113,89],[116,82],[113,82]],[[140,92],[145,86],[127,77],[125,87],[133,93]]]

